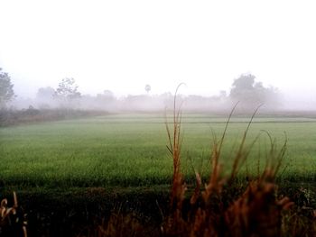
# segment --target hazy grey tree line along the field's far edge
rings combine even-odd
[[[36,107],[51,108],[88,108],[95,106],[96,109],[107,110],[146,110],[151,108],[163,109],[172,105],[171,93],[162,95],[150,95],[151,86],[145,85],[146,94],[138,96],[125,96],[118,99],[114,93],[105,90],[97,96],[82,95],[79,86],[72,77],[60,80],[57,88],[41,87],[36,95]],[[254,109],[257,105],[265,105],[268,109],[277,109],[281,105],[280,93],[274,87],[264,87],[262,82],[256,81],[253,74],[242,74],[234,79],[229,94],[221,91],[218,96],[182,96],[189,110],[224,108],[240,102],[244,108]],[[0,106],[6,108],[16,99],[14,85],[8,73],[0,68]],[[33,105],[32,105],[33,106]]]

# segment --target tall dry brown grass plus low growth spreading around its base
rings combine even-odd
[[[293,211],[293,202],[287,196],[278,195],[275,179],[283,164],[286,139],[278,148],[271,135],[262,132],[270,141],[265,169],[260,170],[258,159],[256,177],[247,177],[246,188],[237,187],[237,174],[245,166],[249,152],[260,136],[246,145],[247,133],[259,107],[250,118],[237,151],[233,154],[230,175],[223,175],[221,153],[237,105],[228,116],[221,138],[217,140],[214,135],[209,180],[203,184],[200,173],[195,171],[196,186],[192,195],[188,195],[188,187],[181,172],[181,105],[177,107],[176,101],[179,87],[174,96],[172,123],[166,121],[169,140],[167,149],[173,164],[169,213],[163,218],[160,228],[154,229],[151,234],[144,232],[146,228],[132,221],[130,216],[113,215],[100,236],[124,236],[117,230],[126,230],[126,226],[133,236],[316,236],[313,235],[316,231],[316,211],[311,209],[311,218],[304,222],[302,216]],[[113,224],[117,222],[117,225]],[[308,227],[312,230],[306,230]]]

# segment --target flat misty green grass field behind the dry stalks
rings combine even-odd
[[[172,122],[172,119],[168,119]],[[194,179],[191,165],[207,177],[212,132],[218,138],[226,118],[184,114],[182,169]],[[229,170],[248,118],[232,119],[220,162]],[[287,134],[282,180],[316,180],[316,119],[257,117],[247,144],[260,131],[270,132],[281,148]],[[163,114],[117,114],[103,117],[0,128],[0,180],[5,187],[140,187],[171,184],[172,158],[166,149]],[[265,133],[246,162],[256,175],[269,141]],[[246,166],[242,170],[245,174]]]

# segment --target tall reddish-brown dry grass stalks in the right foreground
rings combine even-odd
[[[176,97],[176,96],[175,96]],[[175,101],[175,99],[174,99]],[[163,224],[163,235],[166,236],[279,236],[282,229],[282,212],[288,209],[292,202],[287,197],[277,199],[275,176],[281,167],[286,141],[281,150],[276,150],[275,142],[269,135],[271,146],[266,161],[265,170],[258,175],[256,180],[250,181],[242,196],[232,203],[225,205],[226,196],[223,188],[233,185],[237,173],[246,161],[250,152],[246,148],[246,135],[250,124],[256,114],[250,119],[244,132],[241,143],[235,154],[231,174],[228,178],[221,178],[221,166],[219,164],[221,149],[225,140],[230,118],[237,105],[229,114],[228,122],[218,142],[214,136],[214,144],[211,153],[211,168],[209,183],[200,193],[201,178],[196,172],[196,188],[191,196],[191,210],[188,217],[182,213],[183,200],[186,186],[180,171],[180,145],[181,145],[181,116],[180,111],[173,111],[173,137],[167,126],[170,146],[168,149],[173,158],[172,179],[172,213]],[[255,141],[250,144],[250,148]],[[173,141],[173,142],[172,142]],[[200,202],[199,202],[200,200]]]

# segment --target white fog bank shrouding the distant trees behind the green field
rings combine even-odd
[[[265,86],[250,73],[234,78],[228,90],[218,91],[215,95],[190,94],[188,88],[187,84],[182,83],[176,95],[177,105],[187,112],[228,114],[237,103],[237,111],[241,114],[251,114],[258,106],[263,113],[316,110],[313,95],[304,94],[304,91],[300,94],[283,94],[279,88]],[[173,109],[176,87],[162,94],[153,94],[149,84],[143,89],[143,93],[135,95],[118,96],[110,90],[90,95],[84,93],[85,89],[79,87],[74,78],[66,77],[58,87],[40,87],[33,96],[15,95],[6,107],[13,110],[76,109],[110,113],[163,112]]]

